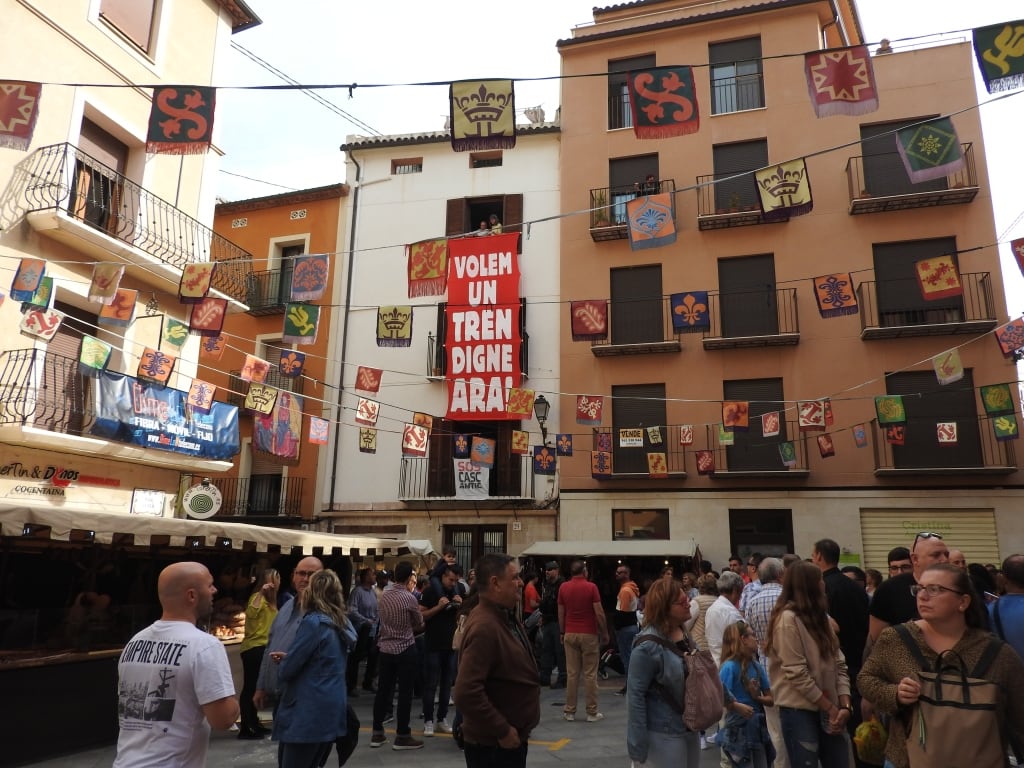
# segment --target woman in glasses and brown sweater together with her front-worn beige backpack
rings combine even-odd
[[[984,603],[966,571],[948,563],[932,565],[910,591],[921,618],[883,630],[857,677],[864,698],[892,716],[887,763],[895,768],[1009,765],[1008,742],[1024,743],[1024,662],[988,632]],[[947,670],[941,690],[929,682],[940,657]],[[970,708],[954,700],[965,676]],[[942,699],[950,706],[943,708]]]

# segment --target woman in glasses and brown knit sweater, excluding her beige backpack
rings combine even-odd
[[[918,600],[921,618],[903,626],[934,669],[939,654],[955,651],[968,670],[973,670],[988,645],[985,607],[978,598],[970,577],[955,565],[940,563],[926,568],[918,584],[910,588]],[[906,752],[907,721],[921,695],[916,673],[921,667],[914,654],[900,638],[896,629],[883,630],[871,648],[871,654],[857,677],[864,698],[872,701],[880,712],[892,715],[889,721],[889,741],[886,743],[886,764],[908,768]],[[999,702],[999,733],[1004,754],[1008,737],[1017,743],[1024,739],[1024,663],[1009,645],[1004,645],[984,675],[998,683],[1004,691]],[[965,731],[964,738],[972,733]]]

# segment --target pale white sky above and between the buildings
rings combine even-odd
[[[263,24],[232,37],[232,49],[218,66],[216,85],[283,82],[234,48],[237,44],[293,81],[364,87],[354,88],[351,96],[348,88],[317,90],[334,109],[298,91],[219,91],[218,144],[225,156],[217,196],[223,200],[343,181],[344,155],[338,147],[351,134],[420,133],[443,127],[446,85],[366,87],[371,84],[557,76],[556,41],[570,37],[573,27],[592,23],[594,5],[606,4],[595,0],[248,2]],[[866,41],[889,38],[896,50],[908,44],[898,42],[901,38],[963,31],[950,39],[970,40],[974,27],[1024,15],[1020,0],[931,0],[927,6],[920,0],[859,0],[857,7]],[[977,67],[975,79],[979,102],[992,98]],[[552,120],[558,103],[557,79],[516,83],[520,112],[540,105]],[[980,109],[996,233],[1000,242],[1022,238],[1024,220],[1017,219],[1024,219],[1024,200],[1012,176],[1020,161],[1007,160],[1018,157],[1024,93]],[[1019,315],[1024,313],[1024,278],[1009,245],[999,251],[1008,310]]]

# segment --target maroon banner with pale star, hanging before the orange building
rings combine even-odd
[[[866,45],[807,53],[804,73],[817,118],[866,115],[879,109],[879,89]]]

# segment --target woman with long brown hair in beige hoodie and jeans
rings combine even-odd
[[[850,678],[813,563],[785,569],[765,653],[790,765],[849,768]]]

